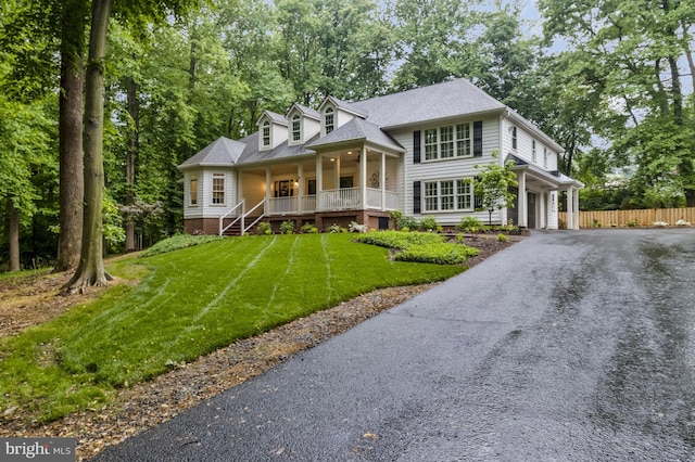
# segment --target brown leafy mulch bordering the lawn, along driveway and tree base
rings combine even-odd
[[[468,266],[479,264],[520,239],[522,238],[510,236],[509,242],[500,242],[494,235],[466,238],[466,244],[480,249],[477,257],[468,260]],[[17,297],[8,298],[7,294],[20,291],[28,295],[33,304],[31,310],[22,309],[27,308],[22,303],[15,303],[15,306],[7,310],[4,305],[0,305],[3,307],[0,309],[0,337],[16,334],[30,325],[26,311],[42,312],[43,315],[34,319],[34,323],[38,323],[58,316],[77,301],[84,301],[84,296],[55,296],[67,278],[50,278],[52,282],[46,282],[46,278],[37,279],[35,283],[20,287],[0,286],[0,303],[16,299]],[[74,437],[78,441],[77,459],[87,459],[106,446],[116,445],[160,425],[184,410],[260,375],[298,352],[345,332],[435,285],[437,283],[390,287],[361,295],[265,334],[236,342],[191,363],[181,364],[150,382],[119,389],[115,392],[115,399],[99,409],[80,411],[48,424],[27,424],[27,415],[20,409],[0,410],[3,411],[0,436]],[[35,303],[38,305],[34,305]]]

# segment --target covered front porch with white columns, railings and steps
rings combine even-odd
[[[240,200],[220,214],[218,232],[233,227],[243,234],[262,220],[274,228],[294,220],[298,229],[306,222],[325,229],[351,221],[383,229],[389,211],[400,208],[400,169],[397,153],[362,145],[240,170]]]

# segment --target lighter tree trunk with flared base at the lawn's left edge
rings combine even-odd
[[[104,57],[112,0],[93,0],[85,92],[85,217],[79,267],[67,283],[68,292],[104,285],[113,278],[103,261],[103,121]]]

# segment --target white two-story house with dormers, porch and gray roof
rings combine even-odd
[[[563,147],[466,79],[351,103],[328,97],[317,110],[265,111],[257,125],[256,133],[219,138],[178,167],[187,232],[243,233],[260,220],[386,229],[392,210],[442,226],[467,215],[486,222],[470,180],[476,166],[508,159],[517,200],[495,210],[493,223],[557,229],[565,191],[567,228],[579,224],[583,184],[557,171]]]

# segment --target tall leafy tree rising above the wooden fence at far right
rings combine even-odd
[[[539,8],[547,42],[564,40],[567,53],[586,59],[581,82],[601,102],[592,131],[614,165],[636,164],[642,204],[673,203],[679,191],[695,206],[695,113],[685,105],[695,78],[692,2],[541,0]]]

